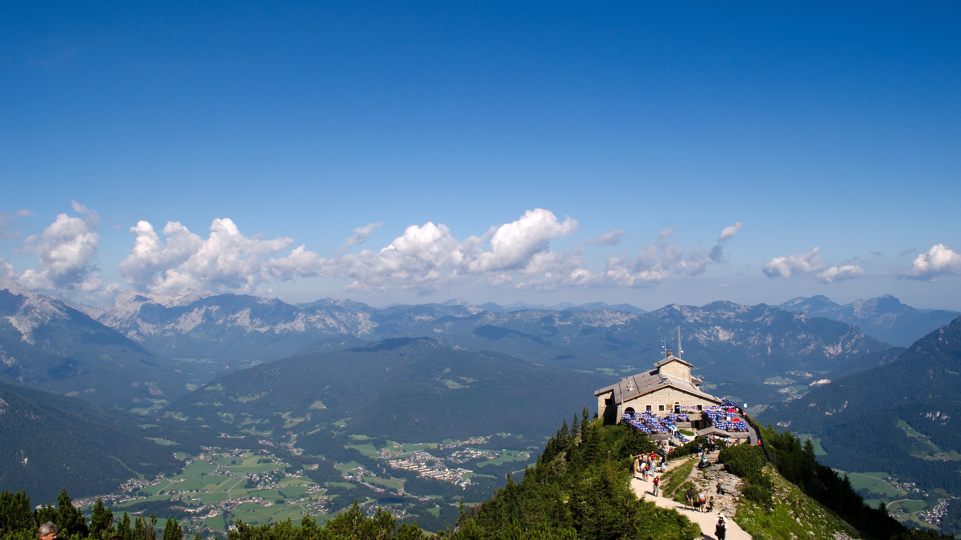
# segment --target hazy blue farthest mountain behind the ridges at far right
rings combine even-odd
[[[890,294],[870,300],[855,300],[844,306],[821,295],[798,297],[777,307],[857,325],[868,335],[899,347],[907,347],[927,332],[945,326],[961,315],[958,311],[948,309],[905,306]]]

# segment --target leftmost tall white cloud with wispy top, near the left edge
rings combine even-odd
[[[19,276],[28,287],[82,291],[100,288],[100,279],[94,274],[100,217],[77,201],[71,201],[71,205],[83,217],[59,214],[42,234],[27,237],[24,250],[37,254],[37,268]]]

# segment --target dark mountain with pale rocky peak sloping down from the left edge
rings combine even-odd
[[[40,388],[125,408],[185,393],[193,379],[59,298],[0,278],[0,372]]]

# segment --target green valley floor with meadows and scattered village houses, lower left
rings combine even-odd
[[[498,435],[511,436],[510,433]],[[234,439],[231,441],[234,444],[243,440],[243,437],[224,438]],[[367,514],[383,507],[395,517],[405,518],[410,504],[404,501],[433,503],[434,506],[451,502],[430,493],[407,492],[404,489],[406,480],[395,478],[390,474],[392,471],[405,470],[408,474],[403,476],[406,478],[410,478],[409,473],[415,473],[420,478],[448,482],[464,489],[477,483],[477,477],[494,478],[483,475],[484,466],[518,461],[517,467],[523,470],[532,454],[478,448],[488,445],[491,436],[438,443],[388,441],[388,446],[382,449],[374,448],[365,435],[351,438],[354,444],[348,448],[376,459],[382,465],[380,471],[372,471],[357,461],[337,462],[334,467],[340,473],[339,478],[317,482],[310,478],[310,473],[316,471],[319,464],[309,463],[309,455],[301,467],[290,465],[282,457],[287,453],[304,456],[303,449],[294,443],[263,439],[258,441],[259,448],[255,450],[202,447],[201,454],[175,453],[184,461],[180,474],[130,479],[113,493],[77,499],[73,504],[86,512],[97,499],[101,499],[111,507],[114,517],[119,518],[125,511],[132,520],[136,516],[155,515],[160,520],[171,517],[180,521],[185,531],[200,532],[205,536],[222,536],[225,530],[234,528],[236,520],[265,524],[287,519],[299,522],[310,516],[324,522],[355,499]],[[473,464],[471,466],[480,472],[467,468],[466,464]],[[370,488],[376,496],[352,493],[358,485]],[[388,503],[379,500],[379,496]],[[349,501],[336,501],[338,498]]]

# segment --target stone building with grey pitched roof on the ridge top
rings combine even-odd
[[[702,391],[702,380],[691,375],[691,367],[669,350],[654,364],[653,371],[631,375],[594,392],[598,414],[604,424],[616,424],[625,412],[648,411],[663,417],[681,408],[702,410],[708,405],[721,405],[721,398]]]

